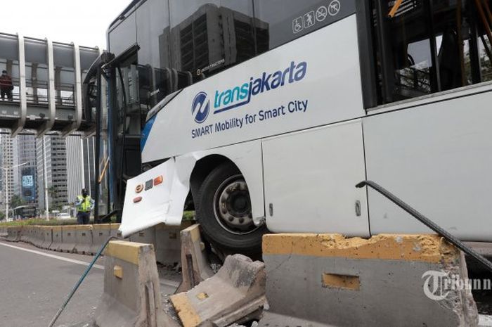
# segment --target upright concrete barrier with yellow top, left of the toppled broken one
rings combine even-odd
[[[178,327],[164,313],[153,245],[111,241],[105,250],[98,327]]]

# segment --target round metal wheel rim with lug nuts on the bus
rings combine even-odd
[[[258,229],[253,223],[250,191],[242,175],[229,177],[216,189],[214,214],[229,233],[245,235]]]

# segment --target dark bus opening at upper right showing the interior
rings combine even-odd
[[[380,103],[490,80],[490,8],[491,1],[373,0]]]

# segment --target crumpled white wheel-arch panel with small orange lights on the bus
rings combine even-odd
[[[258,140],[169,158],[157,167],[129,179],[120,228],[123,236],[160,223],[171,226],[181,224],[193,168],[200,159],[209,155],[221,155],[238,166],[250,190],[254,221],[262,222],[265,217],[263,169],[261,141]],[[159,176],[163,177],[162,184],[152,187],[146,185]],[[136,191],[138,185],[143,190]],[[136,198],[140,198],[138,202],[135,202]]]

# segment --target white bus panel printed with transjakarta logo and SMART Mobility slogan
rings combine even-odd
[[[157,113],[143,162],[363,116],[357,49],[351,15],[183,89]],[[242,93],[255,83],[263,92]]]

